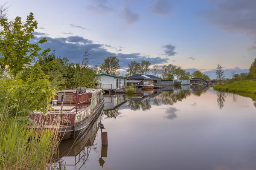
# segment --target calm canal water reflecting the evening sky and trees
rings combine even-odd
[[[55,164],[67,170],[256,170],[254,105],[212,88],[106,96],[102,116],[76,142],[61,143]]]

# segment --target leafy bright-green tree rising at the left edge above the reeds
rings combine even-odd
[[[6,68],[8,65],[8,70],[16,79],[20,71],[35,61],[35,57],[40,58],[50,50],[47,48],[39,54],[42,50],[39,44],[47,42],[45,38],[35,44],[30,41],[35,38],[33,32],[37,29],[33,13],[29,14],[25,24],[20,17],[16,17],[12,25],[5,18],[0,20],[0,24],[3,27],[0,32],[0,66]]]

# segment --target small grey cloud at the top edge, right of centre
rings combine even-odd
[[[150,11],[157,15],[169,14],[171,10],[172,0],[157,0],[155,3],[149,6]]]

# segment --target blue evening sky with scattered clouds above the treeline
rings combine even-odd
[[[1,3],[0,3],[1,4]],[[38,22],[41,48],[90,65],[116,55],[131,61],[177,65],[215,77],[217,64],[247,72],[256,58],[256,0],[9,0],[9,18]],[[21,8],[22,7],[22,8]]]

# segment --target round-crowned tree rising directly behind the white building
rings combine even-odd
[[[104,59],[104,62],[100,66],[100,70],[104,74],[115,75],[116,70],[120,68],[119,58],[116,56],[109,56]]]

